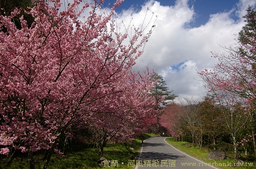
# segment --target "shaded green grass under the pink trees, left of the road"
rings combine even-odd
[[[150,134],[143,134],[144,139],[152,137],[154,135]],[[134,148],[135,150],[130,150],[130,147]],[[131,145],[127,145],[127,149],[125,148],[124,144],[115,144],[109,143],[103,150],[103,156],[108,160],[117,160],[118,167],[117,168],[124,168],[124,169],[131,169],[132,166],[128,166],[129,160],[134,160],[140,150],[141,147],[141,139],[135,139],[135,142]],[[22,155],[22,156],[20,156]],[[29,168],[29,162],[27,154],[20,154],[17,158],[14,158],[13,162],[9,167],[5,167],[4,163],[0,162],[0,168],[20,168],[20,169],[27,169]],[[42,161],[42,154],[35,155],[35,168],[42,168],[44,166],[44,162]],[[65,157],[61,157],[57,154],[53,154],[51,161],[48,165],[50,169],[66,169],[66,168],[77,168],[77,169],[98,169],[98,168],[115,168],[115,167],[103,167],[97,165],[97,161],[99,160],[100,156],[96,148],[93,148],[93,145],[86,146],[86,145],[75,145],[73,146],[73,152],[69,152],[65,154]]]

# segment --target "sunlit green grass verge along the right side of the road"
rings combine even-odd
[[[249,164],[247,164],[247,166],[245,166],[245,164],[244,164],[244,166],[220,166],[220,164],[222,164],[222,165],[224,165],[224,164],[226,164],[226,165],[232,164],[236,160],[234,160],[234,159],[225,159],[225,160],[220,160],[220,161],[219,160],[208,160],[207,159],[207,155],[209,154],[209,152],[207,150],[205,150],[205,149],[201,150],[200,147],[194,147],[194,146],[186,148],[185,145],[186,144],[190,144],[191,145],[191,143],[177,142],[175,140],[175,137],[168,137],[168,138],[166,138],[166,141],[170,145],[174,146],[175,148],[183,151],[184,153],[186,153],[188,155],[196,157],[196,158],[198,158],[198,159],[200,159],[200,160],[202,160],[202,161],[204,161],[206,163],[210,163],[211,165],[215,165],[215,166],[218,165],[218,167],[223,168],[223,169],[227,169],[227,168],[228,169],[233,169],[233,168],[236,168],[236,169],[244,169],[244,168],[252,168],[253,169],[253,168],[255,168],[256,169],[256,163],[253,163],[252,166],[249,166]],[[244,161],[244,162],[251,163],[251,161]],[[216,164],[216,163],[218,163],[218,164]]]

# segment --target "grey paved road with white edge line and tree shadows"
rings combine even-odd
[[[165,141],[166,137],[152,137],[144,140],[140,155],[134,161],[135,169],[145,168],[192,168],[213,169],[218,168],[218,161],[209,164],[182,153]],[[133,161],[131,161],[132,164]],[[193,166],[194,165],[194,166]],[[212,166],[214,165],[214,166]]]

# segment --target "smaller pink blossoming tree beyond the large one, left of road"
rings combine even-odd
[[[122,92],[112,95],[108,99],[111,102],[105,102],[104,106],[91,113],[89,130],[100,156],[103,156],[103,148],[110,140],[129,143],[151,125],[147,119],[154,118],[159,112],[155,109],[156,100],[151,95],[155,84],[151,77],[148,69],[143,75],[130,72],[126,81],[119,83],[118,88]]]

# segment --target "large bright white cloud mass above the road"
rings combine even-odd
[[[208,22],[200,27],[189,27],[197,14],[193,7],[189,8],[187,0],[178,0],[175,6],[170,7],[149,1],[140,11],[135,12],[131,8],[123,11],[118,18],[126,22],[133,18],[132,24],[141,26],[147,7],[158,15],[156,29],[143,55],[137,60],[136,68],[148,66],[162,74],[169,89],[180,98],[200,99],[205,96],[206,90],[203,82],[199,81],[197,71],[210,69],[217,63],[215,58],[210,57],[211,51],[223,53],[221,46],[235,43],[233,34],[237,34],[245,24],[242,16],[246,14],[248,5],[255,5],[255,2],[241,0],[237,11],[232,9],[212,14]],[[231,12],[236,12],[240,19],[234,21],[230,17]],[[179,71],[172,69],[174,65],[180,66]]]

